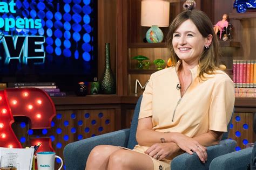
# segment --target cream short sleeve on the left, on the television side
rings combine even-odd
[[[153,83],[152,76],[146,85],[140,104],[139,119],[152,116]]]

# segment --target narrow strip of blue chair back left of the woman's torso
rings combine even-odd
[[[142,96],[139,97],[139,100],[136,104],[136,107],[134,109],[133,117],[132,117],[132,123],[131,123],[131,129],[130,129],[130,135],[129,140],[127,144],[127,148],[133,149],[135,145],[137,145],[136,141],[136,131],[138,126],[138,118],[139,118],[139,110],[140,110],[140,103],[142,102]]]

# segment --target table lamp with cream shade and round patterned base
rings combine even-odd
[[[141,25],[151,26],[146,32],[146,40],[150,43],[161,42],[164,39],[159,27],[169,26],[170,2],[159,0],[142,1]]]

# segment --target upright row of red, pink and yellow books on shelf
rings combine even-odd
[[[234,86],[256,88],[256,60],[233,60]]]

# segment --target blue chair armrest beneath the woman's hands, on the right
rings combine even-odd
[[[207,147],[207,161],[205,164],[201,162],[196,153],[192,155],[188,153],[183,153],[178,155],[171,161],[171,169],[208,169],[211,161],[219,157],[220,155],[233,152],[235,150],[235,145],[237,142],[235,140],[224,139],[220,140],[220,144]]]

